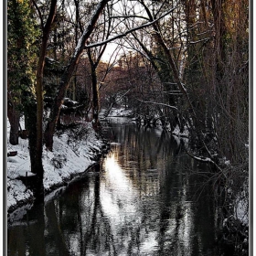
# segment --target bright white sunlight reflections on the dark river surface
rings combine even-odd
[[[127,221],[133,223],[133,229],[139,229],[141,225],[141,219],[144,216],[143,201],[144,198],[152,197],[152,191],[141,194],[134,186],[133,181],[129,178],[129,165],[123,169],[120,165],[117,157],[117,147],[112,148],[112,152],[104,160],[104,182],[101,183],[101,206],[105,215],[111,219],[113,229],[125,229]],[[128,159],[124,159],[126,162]],[[125,165],[123,165],[125,166]],[[142,183],[151,190],[152,183],[148,177],[148,174],[152,175],[155,173],[158,176],[157,169],[148,168],[142,179]],[[151,187],[151,188],[150,188]],[[157,186],[160,188],[159,186]],[[148,189],[147,189],[148,190]],[[186,185],[181,190],[183,195],[187,193]],[[159,189],[155,191],[155,195],[158,195]],[[156,197],[156,200],[159,197]],[[180,205],[186,202],[186,197],[180,197]],[[175,214],[169,216],[169,219],[161,219],[161,208],[157,205],[157,201],[152,201],[151,205],[148,205],[148,213],[150,214],[150,208],[154,208],[154,219],[152,219],[151,230],[144,233],[144,237],[140,237],[140,251],[146,253],[146,255],[155,255],[154,251],[159,250],[159,233],[157,227],[165,225],[165,244],[182,244],[183,250],[187,251],[189,255],[190,239],[192,232],[192,215],[191,215],[191,204],[185,203],[186,208],[180,209],[182,213],[176,213],[176,202],[171,207],[171,211]],[[183,205],[185,207],[185,205]],[[170,208],[168,209],[170,210]],[[178,215],[178,216],[176,216]],[[178,218],[176,220],[176,218]],[[177,221],[179,224],[177,225]],[[118,232],[117,232],[118,233]],[[169,239],[168,239],[169,237]],[[177,244],[176,244],[177,246]],[[179,247],[179,246],[178,246]],[[125,255],[125,254],[124,254]],[[179,254],[177,254],[179,255]]]

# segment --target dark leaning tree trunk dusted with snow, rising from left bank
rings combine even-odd
[[[60,107],[63,103],[64,96],[66,94],[67,89],[69,88],[69,81],[71,80],[73,71],[75,70],[77,63],[79,61],[80,55],[84,50],[85,43],[88,40],[88,38],[91,36],[91,32],[93,31],[93,28],[96,25],[96,22],[101,15],[101,11],[107,5],[107,3],[110,0],[102,0],[94,13],[94,15],[91,17],[91,22],[88,25],[86,29],[84,29],[82,36],[80,37],[80,40],[78,42],[77,47],[75,48],[75,52],[73,57],[69,61],[69,65],[64,71],[64,74],[62,75],[62,78],[60,80],[59,84],[59,92],[58,95],[55,98],[55,101],[53,103],[50,116],[49,116],[49,121],[46,127],[45,131],[45,144],[48,148],[48,150],[52,151],[53,147],[53,134],[55,132],[55,127],[59,118],[59,112],[60,112]]]

